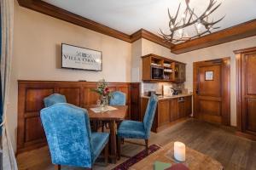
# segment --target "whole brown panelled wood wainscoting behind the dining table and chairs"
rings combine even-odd
[[[108,86],[111,91],[119,90],[126,94],[127,119],[137,120],[140,83],[109,82]],[[18,81],[17,154],[46,145],[39,116],[45,97],[58,93],[65,95],[67,103],[73,105],[95,105],[99,96],[91,88],[96,88],[96,82]]]

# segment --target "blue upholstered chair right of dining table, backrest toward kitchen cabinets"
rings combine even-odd
[[[157,107],[157,96],[152,95],[148,99],[148,105],[145,112],[143,122],[123,121],[118,129],[118,154],[120,156],[120,140],[121,139],[144,139],[146,150],[148,152],[148,139],[150,136],[151,127],[154,121],[155,110]]]

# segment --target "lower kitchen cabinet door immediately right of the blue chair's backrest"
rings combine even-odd
[[[158,102],[159,126],[170,122],[170,102],[169,100],[160,100]]]

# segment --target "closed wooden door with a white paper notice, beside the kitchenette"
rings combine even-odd
[[[230,58],[194,63],[194,115],[230,125]]]

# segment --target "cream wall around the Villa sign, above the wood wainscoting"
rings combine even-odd
[[[61,69],[61,42],[102,51],[102,71]],[[22,8],[15,1],[14,56],[8,108],[16,149],[17,80],[131,82],[131,43]]]

